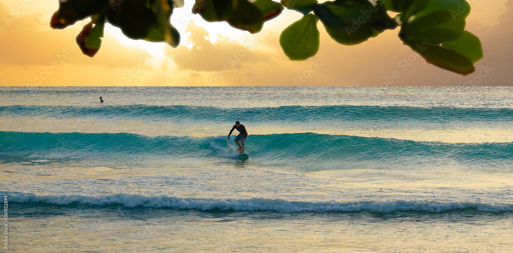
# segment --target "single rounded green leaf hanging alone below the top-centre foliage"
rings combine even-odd
[[[317,54],[320,45],[318,22],[317,16],[308,14],[283,30],[280,46],[289,59],[305,60]]]

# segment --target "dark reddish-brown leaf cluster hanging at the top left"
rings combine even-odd
[[[172,0],[61,0],[50,26],[64,29],[90,17],[91,22],[76,36],[76,43],[90,57],[100,50],[106,22],[129,38],[177,47],[180,33],[169,21],[173,9],[181,6],[183,3]]]

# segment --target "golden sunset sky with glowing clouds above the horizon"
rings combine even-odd
[[[462,76],[427,64],[402,44],[399,28],[343,46],[319,23],[319,53],[290,61],[279,36],[299,12],[285,10],[250,34],[205,22],[191,13],[192,0],[171,17],[179,47],[132,40],[107,25],[90,58],[75,43],[89,20],[54,30],[57,0],[0,0],[0,86],[512,86],[513,0],[467,2],[466,29],[481,38],[485,57]]]

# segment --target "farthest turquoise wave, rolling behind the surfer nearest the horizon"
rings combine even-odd
[[[428,122],[509,122],[513,109],[451,107],[374,106],[284,106],[267,108],[218,108],[194,106],[4,106],[0,116],[96,117],[120,119],[208,120],[224,122],[233,118],[251,121],[428,121]]]

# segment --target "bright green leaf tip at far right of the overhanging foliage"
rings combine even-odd
[[[465,58],[469,59],[472,63],[476,63],[483,58],[481,40],[469,31],[464,31],[463,34],[455,40],[444,42],[442,47],[465,56]]]

